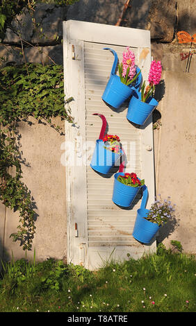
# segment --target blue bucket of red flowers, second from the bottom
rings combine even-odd
[[[123,185],[122,182],[117,180],[119,175],[124,175],[124,173],[119,172],[114,175],[114,185],[113,185],[113,203],[122,207],[129,207],[133,203],[134,198],[140,191],[142,187],[130,187]],[[144,199],[145,200],[145,199]]]

